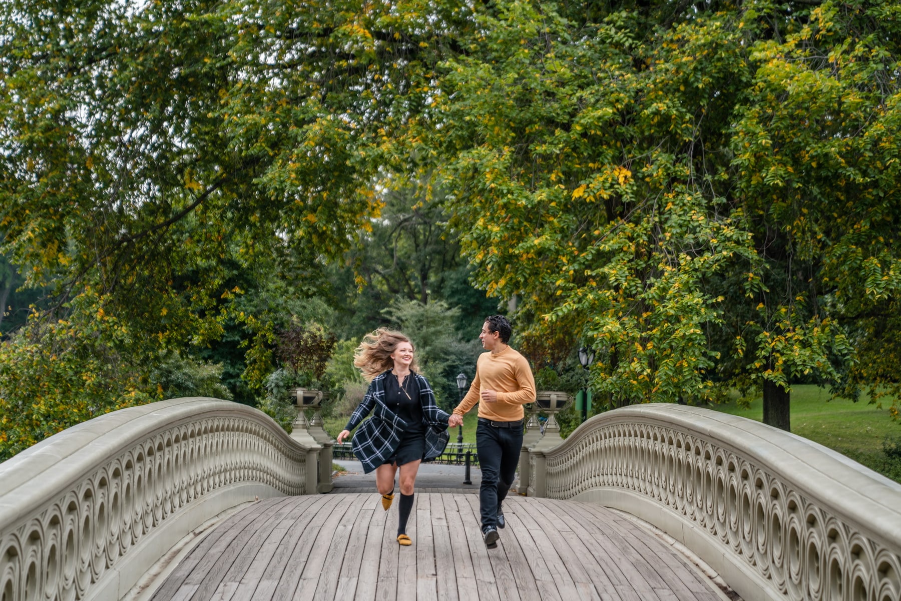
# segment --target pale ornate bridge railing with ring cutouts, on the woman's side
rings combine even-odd
[[[211,517],[313,494],[316,457],[266,414],[209,398],[69,428],[0,463],[0,601],[119,599]]]

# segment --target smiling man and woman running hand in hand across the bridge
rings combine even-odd
[[[447,428],[463,423],[463,415],[478,403],[482,537],[488,549],[496,548],[497,529],[505,526],[501,504],[513,484],[523,445],[523,405],[535,400],[529,362],[507,344],[511,332],[503,315],[486,318],[478,338],[487,352],[479,355],[476,377],[452,414],[435,404],[428,380],[416,372],[413,344],[404,334],[379,328],[359,345],[354,365],[369,380],[369,390],[338,434],[338,442],[344,442],[350,430],[373,414],[354,434],[353,453],[366,473],[375,470],[386,510],[394,501],[395,476],[400,470],[399,544],[413,543],[406,523],[420,462],[444,451],[450,436]]]

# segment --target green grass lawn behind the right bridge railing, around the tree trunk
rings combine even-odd
[[[857,403],[829,400],[827,390],[814,385],[791,388],[791,431],[814,442],[839,451],[888,478],[901,482],[901,460],[892,460],[882,450],[887,438],[901,441],[901,422],[893,422],[886,409],[869,405],[869,397]],[[710,408],[727,414],[741,415],[758,422],[763,420],[763,401],[756,398],[751,407],[741,409],[734,403]]]

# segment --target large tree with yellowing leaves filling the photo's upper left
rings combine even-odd
[[[243,311],[236,272],[316,278],[348,232],[378,214],[381,134],[359,114],[334,117],[364,102],[371,110],[371,99],[349,90],[323,105],[324,84],[311,76],[347,48],[349,32],[365,36],[339,10],[323,20],[337,25],[320,38],[331,49],[323,57],[286,37],[287,22],[277,31],[259,21],[276,12],[0,6],[2,250],[25,286],[52,295],[2,349],[0,419],[22,416],[18,440],[73,423],[42,417],[73,399],[85,403],[69,417],[85,419],[157,398],[167,389],[150,381],[159,357],[202,354],[230,324],[250,341],[245,380],[259,387],[277,321]],[[298,51],[305,68],[295,68]],[[359,145],[346,143],[358,133]]]

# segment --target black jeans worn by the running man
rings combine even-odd
[[[482,486],[478,503],[482,514],[482,530],[497,527],[497,510],[513,485],[519,453],[523,448],[523,423],[512,428],[496,428],[481,420],[476,427],[478,467],[482,470]]]

